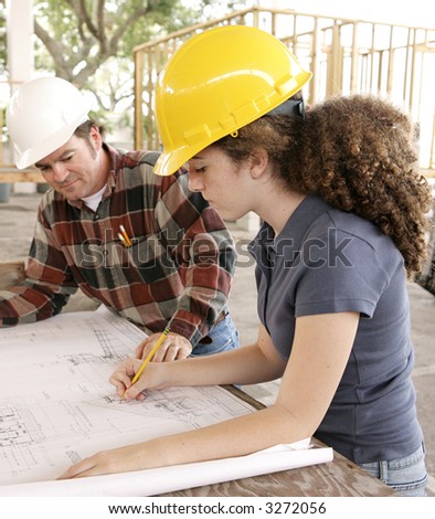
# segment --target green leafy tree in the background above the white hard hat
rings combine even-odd
[[[0,0],[2,2],[4,0]],[[94,93],[96,114],[127,126],[132,105],[132,49],[243,6],[223,0],[34,0],[35,68]],[[1,11],[0,11],[1,13]],[[120,120],[121,119],[121,120]]]

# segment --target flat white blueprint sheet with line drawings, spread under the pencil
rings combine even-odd
[[[219,386],[120,402],[108,378],[144,337],[108,310],[0,329],[0,485],[53,480],[98,451],[253,411]]]

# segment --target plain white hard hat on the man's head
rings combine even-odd
[[[7,126],[19,169],[28,168],[63,146],[88,119],[89,100],[61,77],[24,83],[7,109]]]

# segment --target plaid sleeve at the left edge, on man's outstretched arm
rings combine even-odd
[[[0,327],[54,316],[77,286],[40,206],[29,252],[25,279],[0,290]]]

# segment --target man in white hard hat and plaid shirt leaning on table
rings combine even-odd
[[[149,338],[169,326],[156,361],[237,347],[226,301],[233,241],[217,213],[188,189],[185,170],[160,178],[157,152],[116,150],[71,83],[24,83],[7,112],[17,167],[35,165],[42,198],[26,278],[0,292],[0,326],[45,319],[81,288]]]

